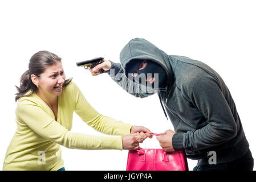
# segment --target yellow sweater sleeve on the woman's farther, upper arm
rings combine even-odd
[[[74,84],[74,83],[73,83]],[[132,125],[116,121],[113,118],[99,114],[92,107],[78,86],[74,84],[75,112],[82,120],[95,130],[108,135],[130,134]]]

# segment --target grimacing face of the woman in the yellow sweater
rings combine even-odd
[[[56,61],[55,65],[51,65],[40,75],[38,79],[38,89],[40,92],[59,96],[62,94],[62,86],[66,79],[62,63]]]

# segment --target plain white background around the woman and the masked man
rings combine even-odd
[[[255,157],[255,17],[254,1],[1,1],[1,167],[17,128],[14,85],[19,85],[30,57],[41,50],[62,57],[67,78],[73,77],[99,113],[155,133],[173,129],[157,95],[133,97],[107,74],[92,77],[76,67],[76,62],[95,56],[119,62],[121,49],[137,37],[169,55],[200,60],[222,76]],[[104,135],[75,113],[71,131]],[[141,147],[160,148],[155,137]],[[65,147],[62,151],[67,170],[125,170],[128,154]],[[197,162],[188,163],[192,170]]]

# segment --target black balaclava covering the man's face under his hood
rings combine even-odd
[[[147,66],[144,69],[139,70],[139,65],[143,62],[147,61]],[[161,67],[160,64],[157,64],[151,60],[139,60],[133,59],[129,61],[125,71],[128,73],[128,78],[132,81],[137,82],[138,84],[151,87],[152,89],[165,89],[168,83],[168,76],[164,68]],[[129,74],[137,73],[136,77],[132,77]],[[155,75],[158,74],[158,77]],[[153,84],[149,82],[145,82],[145,78],[148,76],[152,76],[155,78]],[[157,79],[158,78],[158,79]],[[158,80],[158,87],[157,87],[157,80]]]

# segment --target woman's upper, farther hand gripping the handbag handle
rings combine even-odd
[[[152,138],[152,133],[149,129],[143,126],[132,126],[131,134],[136,134],[136,140],[139,143],[143,143],[146,138]]]

